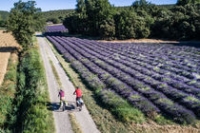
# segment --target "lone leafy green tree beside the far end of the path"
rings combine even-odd
[[[45,21],[42,19],[41,9],[35,7],[35,1],[14,3],[7,22],[7,29],[12,31],[16,40],[27,49],[33,44],[32,36],[41,31]]]

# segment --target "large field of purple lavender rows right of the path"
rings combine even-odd
[[[162,114],[178,123],[200,119],[199,47],[47,38],[80,74],[96,75],[91,84],[113,91],[147,116]]]

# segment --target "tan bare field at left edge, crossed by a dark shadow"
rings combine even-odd
[[[15,48],[20,48],[20,46],[12,34],[0,30],[0,85],[3,82],[10,55]]]

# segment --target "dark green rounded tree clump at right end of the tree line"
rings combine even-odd
[[[163,12],[166,16],[158,17],[152,26],[152,35],[159,38],[189,40],[198,39],[199,18],[197,6],[175,6],[171,12]],[[162,33],[162,34],[160,34]]]

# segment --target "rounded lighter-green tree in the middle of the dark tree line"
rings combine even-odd
[[[146,38],[153,20],[143,10],[124,10],[115,16],[116,36],[120,39]]]

